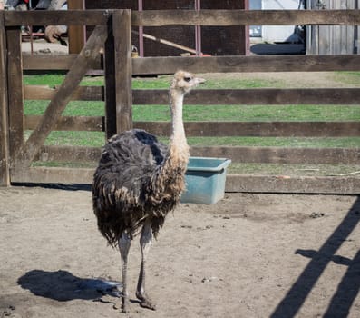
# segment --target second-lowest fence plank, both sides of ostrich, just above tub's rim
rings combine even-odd
[[[97,163],[101,147],[47,145],[37,160]],[[360,148],[285,148],[244,146],[191,146],[190,155],[229,158],[233,163],[253,164],[358,164]]]

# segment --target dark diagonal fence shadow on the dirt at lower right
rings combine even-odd
[[[311,261],[284,299],[277,305],[274,313],[270,316],[271,318],[294,317],[330,262],[348,267],[345,276],[337,286],[336,293],[326,309],[324,317],[345,317],[349,313],[360,288],[360,251],[356,253],[353,260],[338,256],[335,253],[352,233],[359,221],[360,197],[357,198],[344,220],[318,251],[296,251],[298,254],[311,258]]]

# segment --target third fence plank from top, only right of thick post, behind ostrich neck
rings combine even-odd
[[[133,104],[168,104],[168,90],[133,90]],[[360,104],[360,88],[199,89],[184,104]]]

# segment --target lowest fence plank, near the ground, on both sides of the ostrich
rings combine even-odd
[[[12,169],[13,182],[50,184],[92,184],[94,169]],[[294,177],[229,174],[226,192],[293,194],[360,194],[360,178]]]

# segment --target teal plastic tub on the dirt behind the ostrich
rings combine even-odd
[[[227,167],[224,158],[190,157],[181,203],[215,204],[224,197]]]

